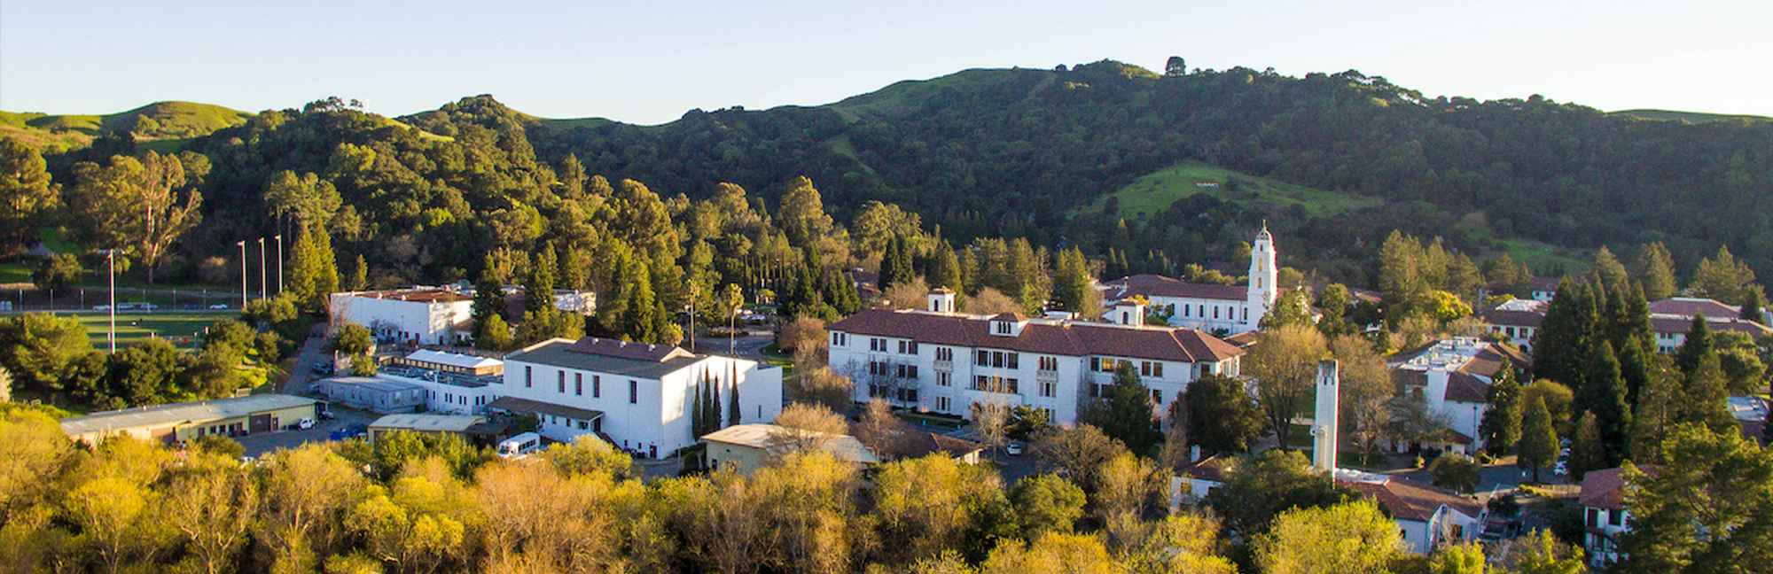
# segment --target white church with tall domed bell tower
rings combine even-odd
[[[1250,243],[1250,275],[1245,285],[1188,283],[1161,275],[1133,275],[1103,285],[1103,298],[1144,296],[1151,310],[1167,314],[1172,326],[1238,335],[1255,331],[1275,306],[1275,237],[1264,225]]]

